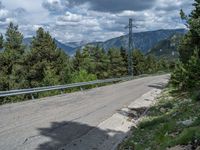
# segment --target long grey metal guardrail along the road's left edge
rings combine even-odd
[[[19,89],[19,90],[11,90],[11,91],[0,91],[0,97],[17,96],[17,95],[23,95],[23,94],[32,95],[33,93],[47,92],[47,91],[53,91],[53,90],[65,90],[69,88],[95,85],[95,84],[101,84],[101,83],[118,82],[118,81],[123,81],[123,80],[130,80],[130,79],[133,79],[133,77],[129,76],[129,77],[123,77],[123,78],[113,78],[113,79],[106,79],[106,80],[72,83],[72,84],[67,84],[67,85],[47,86],[47,87]]]

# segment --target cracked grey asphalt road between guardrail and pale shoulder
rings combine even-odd
[[[151,89],[162,88],[168,79],[169,75],[145,77],[0,106],[0,149],[60,149],[93,129],[97,131],[95,138],[108,138],[107,131],[97,127],[101,122]]]

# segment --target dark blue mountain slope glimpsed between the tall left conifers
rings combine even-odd
[[[32,38],[24,38],[23,43],[27,46],[30,46],[32,41]],[[69,54],[69,55],[73,55],[75,53],[76,48],[67,46],[61,42],[59,42],[58,40],[54,39],[56,45],[58,46],[58,48],[61,48],[62,50],[65,51],[65,53]]]

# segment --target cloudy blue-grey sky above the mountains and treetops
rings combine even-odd
[[[187,14],[193,0],[0,0],[0,32],[9,22],[19,25],[24,37],[39,27],[63,43],[105,41],[134,32],[185,28],[179,11]]]

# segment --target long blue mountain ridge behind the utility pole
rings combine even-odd
[[[139,32],[139,33],[133,33],[133,44],[135,45],[135,48],[140,49],[144,54],[148,53],[148,51],[155,46],[158,42],[161,40],[168,39],[174,34],[185,34],[187,31],[185,29],[173,29],[173,30],[156,30],[156,31],[147,31],[147,32]],[[129,36],[121,36],[117,38],[110,39],[105,42],[94,42],[89,43],[87,45],[91,46],[100,46],[104,49],[109,48],[128,48],[128,40]]]

